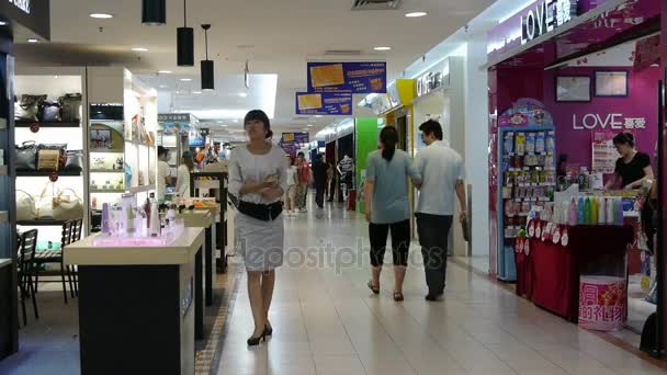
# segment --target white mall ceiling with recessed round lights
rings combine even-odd
[[[404,0],[397,11],[352,11],[352,0],[190,0],[188,23],[195,27],[196,61],[194,68],[179,68],[176,29],[183,25],[181,0],[167,0],[166,26],[142,25],[139,0],[55,0],[52,1],[52,43],[18,45],[16,60],[41,66],[122,64],[135,73],[147,75],[146,79],[158,90],[168,91],[161,98],[177,98],[172,102],[174,110],[182,110],[181,104],[188,107],[201,104],[204,109],[222,111],[251,109],[259,105],[258,98],[264,95],[257,92],[259,88],[251,88],[247,98],[238,95],[244,90],[239,75],[249,59],[251,73],[278,75],[274,125],[301,129],[313,123],[316,125],[313,129],[317,129],[331,120],[295,120],[294,115],[294,92],[306,86],[307,60],[386,59],[389,77],[396,77],[493,2]],[[404,16],[417,10],[429,14],[420,19]],[[114,18],[89,18],[93,12],[112,13]],[[208,56],[216,64],[216,91],[192,94],[191,91],[199,89],[199,60],[204,53],[203,31],[199,26],[202,23],[213,25],[208,33]],[[137,46],[149,50],[131,50]],[[376,46],[393,49],[376,53],[373,50]],[[360,55],[326,55],[327,50],[341,49],[359,50]],[[173,73],[158,78],[158,70]],[[181,82],[180,78],[185,77],[193,80]],[[167,87],[159,88],[159,84]],[[176,95],[177,90],[182,93]],[[210,120],[230,122],[233,118],[228,117]]]

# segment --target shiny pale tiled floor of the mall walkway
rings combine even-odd
[[[404,303],[391,298],[391,272],[373,296],[361,216],[289,218],[286,240],[291,261],[278,274],[273,338],[246,345],[252,318],[244,279],[218,374],[665,374],[461,266],[450,265],[444,299],[427,303],[419,251]]]

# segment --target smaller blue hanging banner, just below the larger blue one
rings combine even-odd
[[[323,93],[296,93],[297,115],[351,115],[352,93],[350,92],[323,92]]]

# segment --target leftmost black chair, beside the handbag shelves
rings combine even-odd
[[[27,326],[27,315],[25,314],[25,298],[32,298],[35,319],[39,319],[37,309],[37,295],[33,284],[35,273],[35,248],[37,247],[37,229],[25,231],[20,237],[19,242],[19,288],[21,292],[21,307],[23,309],[23,323]]]

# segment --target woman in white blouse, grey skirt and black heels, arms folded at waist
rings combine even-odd
[[[268,141],[272,132],[264,112],[248,112],[244,126],[248,144],[235,148],[229,157],[229,193],[238,200],[235,238],[248,272],[255,320],[248,345],[253,346],[273,333],[269,308],[275,269],[283,264],[281,197],[287,190],[287,164],[284,151]]]

